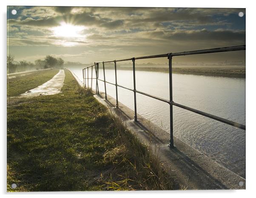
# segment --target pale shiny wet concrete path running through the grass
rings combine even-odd
[[[61,88],[64,85],[65,72],[63,69],[59,71],[58,74],[53,76],[52,79],[45,82],[43,85],[40,85],[34,89],[26,91],[26,93],[20,94],[20,98],[31,98],[36,96],[46,96],[54,95],[60,93]]]

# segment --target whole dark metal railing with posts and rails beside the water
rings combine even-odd
[[[240,128],[245,130],[245,125],[239,124],[233,121],[230,121],[228,119],[224,119],[218,116],[214,116],[210,113],[205,113],[200,110],[193,109],[191,107],[187,107],[184,105],[180,105],[173,101],[173,95],[172,95],[172,57],[175,56],[185,56],[185,55],[192,55],[192,54],[208,54],[208,53],[216,53],[216,52],[226,52],[226,51],[240,51],[245,50],[245,45],[238,45],[238,46],[232,46],[232,47],[224,47],[224,48],[212,48],[212,49],[205,49],[205,50],[197,50],[197,51],[185,51],[185,52],[178,52],[178,53],[168,53],[168,54],[158,54],[158,55],[152,55],[152,56],[145,56],[145,57],[133,57],[133,58],[127,58],[127,59],[119,59],[119,60],[112,60],[112,61],[103,61],[103,62],[94,62],[94,65],[91,65],[89,67],[86,67],[82,70],[83,74],[83,82],[84,87],[89,89],[89,79],[91,79],[91,88],[92,88],[92,80],[96,79],[96,93],[99,94],[99,85],[98,80],[104,82],[104,88],[105,88],[105,99],[107,100],[107,90],[106,90],[106,83],[110,85],[114,85],[116,87],[116,107],[118,108],[118,90],[117,88],[124,88],[130,91],[134,92],[134,121],[137,122],[137,99],[136,99],[136,93],[140,93],[142,95],[160,100],[162,102],[166,102],[170,105],[170,147],[174,147],[174,136],[173,136],[173,106],[180,107],[189,111],[192,111],[194,113],[200,114],[202,116],[206,116],[211,119],[215,119],[219,122],[223,122],[229,125],[232,125],[234,127]],[[136,78],[135,78],[135,60],[137,59],[150,59],[150,58],[160,58],[160,57],[167,57],[169,60],[169,88],[170,88],[170,99],[166,100],[157,96],[153,96],[148,93],[144,93],[142,91],[138,91],[136,89]],[[128,61],[131,60],[133,64],[133,82],[134,82],[134,89],[126,88],[121,85],[117,84],[117,62],[121,61]],[[114,62],[114,69],[115,69],[115,83],[111,83],[105,80],[105,65],[104,63]],[[102,63],[103,66],[103,76],[104,79],[99,79],[99,63]],[[93,67],[95,68],[95,74],[96,78],[93,78]],[[89,78],[89,68],[91,68],[91,78]],[[87,78],[86,78],[86,69],[87,69]],[[86,79],[87,79],[87,85],[86,85]]]

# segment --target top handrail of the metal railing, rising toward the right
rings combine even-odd
[[[157,54],[157,55],[151,55],[151,56],[133,57],[133,58],[125,58],[125,59],[102,61],[102,62],[107,63],[107,62],[115,62],[115,61],[116,62],[127,61],[127,60],[132,60],[132,59],[162,58],[162,57],[168,57],[170,54],[171,54],[171,56],[174,57],[174,56],[185,56],[185,55],[193,55],[193,54],[209,54],[209,53],[216,53],[216,52],[240,51],[240,50],[245,50],[245,45],[236,45],[236,46],[224,47],[224,48],[211,48],[211,49],[204,49],[204,50],[184,51],[184,52],[167,53],[167,54]],[[102,62],[95,62],[95,63],[102,63]]]

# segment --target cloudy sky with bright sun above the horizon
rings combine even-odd
[[[8,54],[92,63],[245,45],[244,8],[9,6]],[[11,14],[12,10],[17,14]],[[239,17],[239,12],[244,16]],[[174,62],[245,61],[245,51],[175,57]],[[165,63],[167,58],[140,63]]]

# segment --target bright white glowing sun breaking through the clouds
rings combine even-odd
[[[52,31],[57,37],[82,37],[81,31],[84,29],[83,26],[63,22],[60,26],[52,28]]]

